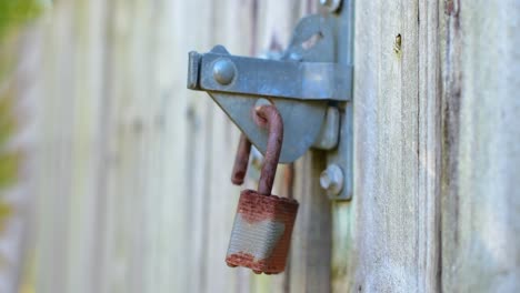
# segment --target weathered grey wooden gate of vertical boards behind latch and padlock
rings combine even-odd
[[[287,273],[226,266],[239,131],[186,89],[187,53],[280,50],[314,12],[314,0],[43,10],[18,54],[38,292],[520,289],[516,0],[356,1],[353,199],[327,199],[322,152],[280,166],[277,193],[300,202]]]

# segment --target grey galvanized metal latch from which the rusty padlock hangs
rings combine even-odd
[[[251,109],[276,105],[286,129],[280,163],[296,161],[310,148],[334,150],[352,93],[352,65],[336,62],[337,21],[320,14],[301,19],[278,60],[231,55],[222,46],[190,52],[188,88],[207,91],[262,154],[268,134],[252,120]],[[343,173],[351,169],[348,164],[340,163]],[[351,180],[342,182],[333,196],[348,199],[346,182]]]

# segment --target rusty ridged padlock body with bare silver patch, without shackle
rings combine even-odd
[[[240,193],[226,262],[254,272],[283,272],[298,202],[253,190]]]

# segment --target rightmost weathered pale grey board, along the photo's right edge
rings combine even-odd
[[[446,3],[447,292],[520,287],[519,16],[518,1]]]

